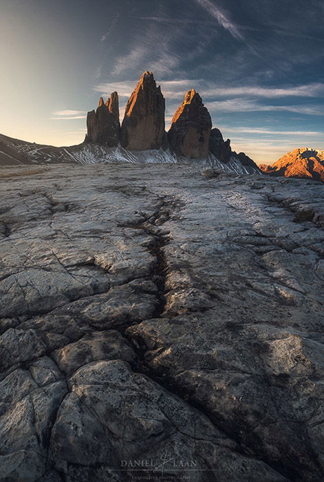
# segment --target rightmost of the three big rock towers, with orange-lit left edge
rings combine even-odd
[[[178,156],[204,158],[209,152],[211,127],[210,115],[202,98],[194,89],[189,90],[173,116],[168,132],[169,145]]]

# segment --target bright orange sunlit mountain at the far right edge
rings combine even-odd
[[[272,165],[259,165],[270,176],[311,178],[324,181],[324,151],[302,147],[288,152]]]

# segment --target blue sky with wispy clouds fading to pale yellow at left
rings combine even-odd
[[[167,127],[195,88],[257,163],[324,149],[323,0],[1,0],[0,27],[1,134],[78,144],[99,96],[123,113],[150,70]]]

